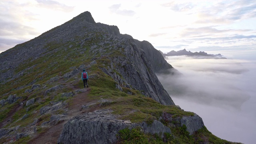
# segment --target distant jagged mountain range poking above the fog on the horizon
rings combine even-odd
[[[160,51],[161,52],[161,51]],[[196,58],[221,58],[221,59],[226,59],[224,57],[222,57],[221,54],[207,54],[206,52],[190,52],[187,51],[186,49],[184,50],[179,50],[179,51],[170,51],[167,54],[164,54],[163,52],[161,52],[161,54],[166,57],[166,56],[192,56],[192,57],[196,57]]]

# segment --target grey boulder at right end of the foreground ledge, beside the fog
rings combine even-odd
[[[203,128],[204,122],[200,116],[197,114],[194,114],[194,116],[184,116],[180,120],[180,125],[183,126],[183,124],[187,127],[187,131],[189,134],[193,134],[200,128]]]

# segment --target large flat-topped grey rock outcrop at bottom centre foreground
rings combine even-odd
[[[117,140],[116,134],[124,128],[139,126],[145,133],[171,133],[170,128],[161,122],[154,121],[152,125],[146,123],[135,124],[130,121],[117,120],[111,110],[96,110],[76,116],[69,120],[58,138],[58,144],[112,144]]]

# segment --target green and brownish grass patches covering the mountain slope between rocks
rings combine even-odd
[[[100,37],[100,35],[98,35]],[[59,83],[55,82],[53,84],[48,84],[47,81],[50,78],[58,75],[63,76],[65,73],[72,71],[70,67],[80,66],[81,64],[88,65],[92,62],[93,55],[89,54],[90,43],[97,41],[97,38],[87,42],[87,45],[80,47],[78,41],[82,38],[77,38],[77,42],[66,42],[62,44],[51,43],[48,44],[48,53],[44,54],[44,57],[40,57],[36,60],[28,60],[24,64],[20,65],[16,72],[24,72],[24,75],[20,78],[10,81],[5,84],[5,86],[0,87],[0,98],[6,99],[10,94],[17,94],[21,96],[17,102],[14,104],[6,104],[0,109],[0,122],[4,121],[8,116],[10,116],[11,111],[19,106],[19,103],[24,100],[29,100],[31,98],[40,99],[36,101],[32,106],[28,107],[25,104],[20,108],[14,115],[11,117],[12,122],[7,123],[6,128],[14,127],[20,125],[20,127],[25,127],[26,125],[33,122],[35,118],[39,119],[39,125],[42,122],[50,120],[50,114],[40,115],[38,110],[43,106],[48,105],[52,101],[66,101],[69,102],[66,98],[61,98],[60,93],[70,92],[70,88],[64,88],[54,93],[54,95],[44,96],[44,92],[47,89],[43,90],[34,90],[32,93],[24,93],[28,88],[31,88],[31,82],[35,84],[40,84],[41,86],[47,86],[50,88],[56,86]],[[72,48],[68,46],[73,45]],[[63,50],[67,48],[67,50]],[[79,50],[84,50],[84,54],[80,54]],[[115,54],[118,54],[116,52]],[[113,54],[112,56],[115,56]],[[122,55],[122,54],[120,54]],[[98,55],[100,57],[100,55]],[[109,60],[105,57],[96,60],[97,64],[92,65],[87,69],[89,76],[93,75],[89,79],[88,83],[90,85],[90,93],[88,98],[92,101],[100,100],[100,98],[108,99],[110,102],[105,102],[102,104],[94,104],[90,106],[90,110],[95,109],[112,109],[114,110],[113,114],[117,114],[122,120],[130,120],[131,122],[147,122],[148,124],[152,123],[153,120],[158,120],[162,116],[163,112],[172,114],[173,118],[182,117],[182,116],[192,116],[192,112],[184,112],[176,106],[164,106],[154,101],[151,98],[147,98],[140,94],[138,90],[131,90],[128,88],[122,88],[123,92],[116,89],[116,82],[106,75],[99,67],[107,67],[109,65]],[[30,68],[32,67],[32,68]],[[24,71],[24,68],[30,68]],[[80,80],[80,73],[75,76],[77,79],[70,78],[66,80],[66,84],[72,81],[73,85],[79,88],[83,88],[82,81]],[[65,84],[64,84],[65,85]],[[127,94],[127,92],[132,93],[132,95]],[[37,112],[37,113],[36,113]],[[62,114],[64,111],[58,110],[54,114]],[[22,121],[16,122],[16,120],[22,118],[24,114],[28,114],[28,118]],[[173,133],[173,136],[165,134],[164,139],[161,139],[157,135],[143,134],[138,128],[133,130],[124,129],[119,133],[118,143],[170,143],[170,144],[186,144],[186,143],[218,143],[218,144],[230,144],[226,140],[221,140],[213,134],[211,134],[206,128],[202,128],[194,135],[189,136],[186,132],[186,127],[176,127],[168,123],[163,122],[166,126],[170,127]],[[42,128],[38,128],[38,133],[42,131]],[[26,143],[30,140],[30,137],[24,137],[19,140],[16,140],[14,143]],[[6,138],[0,139],[0,142],[8,141]]]

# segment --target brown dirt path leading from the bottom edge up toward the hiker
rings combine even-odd
[[[78,90],[79,88],[72,87],[72,89]],[[75,96],[71,99],[70,105],[68,105],[68,119],[59,122],[57,125],[49,128],[45,132],[38,134],[28,144],[56,144],[60,136],[60,133],[62,132],[64,124],[66,124],[66,122],[68,122],[68,120],[70,120],[74,116],[81,114],[82,105],[88,104],[88,102],[90,102],[90,100],[88,100],[87,98],[89,92],[90,88],[86,88],[86,92],[75,94]]]

